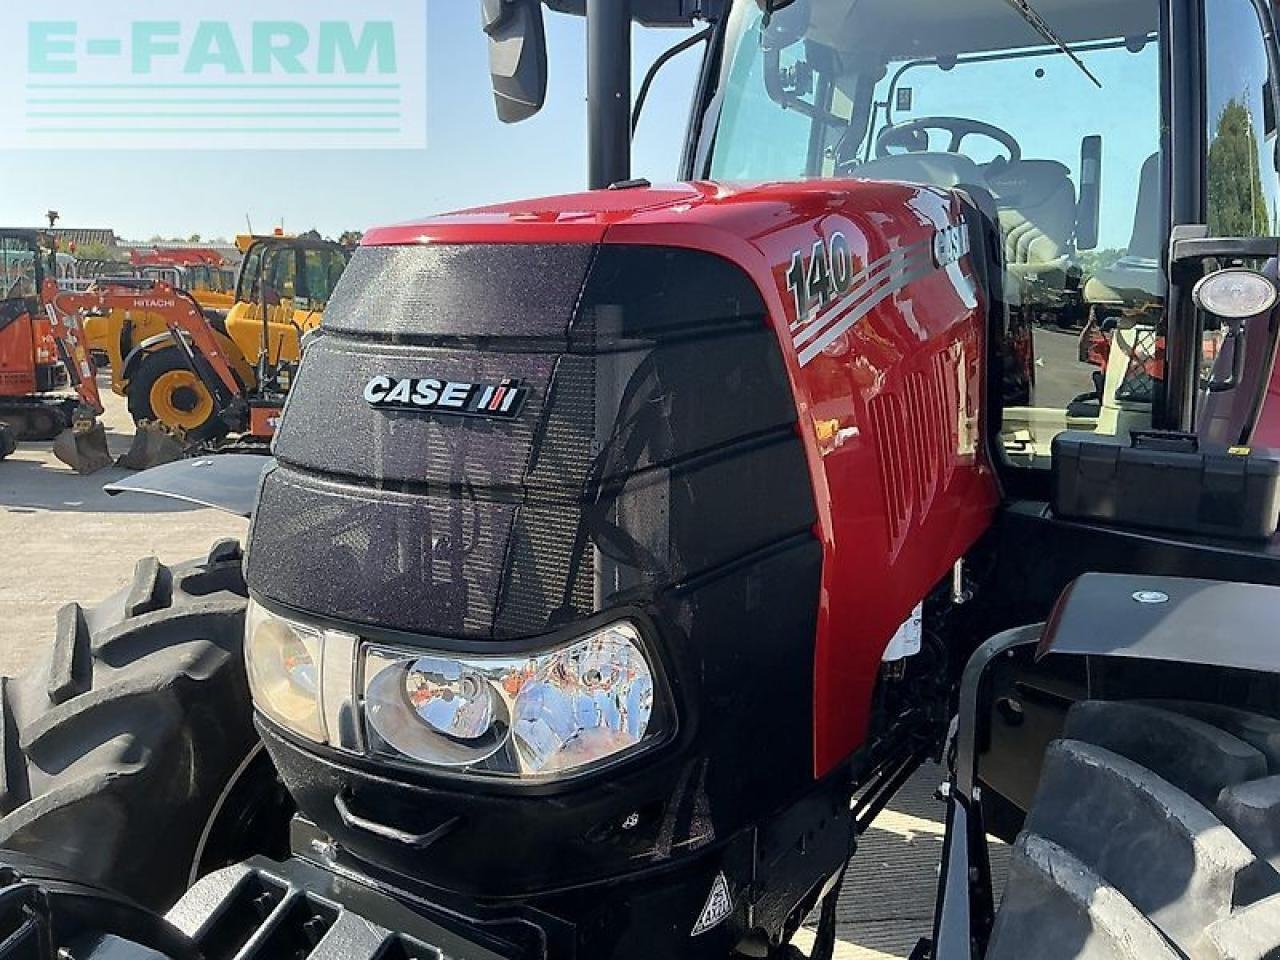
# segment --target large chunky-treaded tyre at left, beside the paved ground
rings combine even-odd
[[[44,662],[0,678],[0,847],[163,910],[218,824],[244,822],[265,754],[241,561],[233,540],[172,568],[140,561],[124,590],[59,611]]]

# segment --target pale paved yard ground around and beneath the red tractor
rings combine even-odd
[[[128,449],[132,422],[108,397],[105,416],[115,454]],[[70,600],[95,602],[128,582],[141,557],[178,562],[223,538],[243,538],[246,522],[225,513],[152,497],[108,497],[102,485],[124,475],[82,477],[59,463],[51,444],[24,444],[0,463],[0,673],[24,669],[50,643],[54,616]],[[840,905],[837,960],[905,957],[927,936],[942,851],[941,781],[924,768],[863,838]],[[1002,873],[1007,851],[993,860]],[[806,947],[804,932],[797,941]]]

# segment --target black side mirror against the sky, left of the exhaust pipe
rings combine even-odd
[[[489,78],[498,119],[520,123],[547,102],[547,32],[541,0],[481,0]]]

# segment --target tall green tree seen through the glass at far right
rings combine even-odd
[[[1270,224],[1253,118],[1245,104],[1229,100],[1208,147],[1208,229],[1215,237],[1262,237]]]

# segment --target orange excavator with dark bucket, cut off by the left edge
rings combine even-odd
[[[45,308],[58,289],[54,251],[36,230],[0,229],[0,458],[20,442],[67,434],[86,465],[102,466],[102,403],[84,330],[78,317]]]

